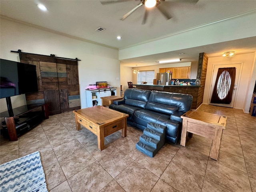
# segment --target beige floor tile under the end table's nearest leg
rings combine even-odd
[[[209,159],[212,161],[215,161],[211,158],[209,158]],[[220,150],[219,156],[218,156],[218,163],[222,164],[228,168],[231,168],[233,170],[236,170],[242,174],[247,175],[244,158],[241,158],[236,155],[232,155],[230,153]]]

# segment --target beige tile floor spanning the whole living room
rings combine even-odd
[[[76,131],[74,114],[44,120],[18,141],[1,137],[0,164],[39,151],[50,192],[256,192],[256,118],[242,110],[202,105],[228,116],[218,161],[212,140],[194,136],[186,147],[166,143],[150,158],[135,149],[142,134],[131,126],[97,149],[97,137]]]

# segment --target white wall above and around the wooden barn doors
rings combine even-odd
[[[120,92],[120,62],[118,50],[62,36],[1,18],[0,58],[20,61],[11,50],[58,57],[78,58],[81,108],[86,107],[85,88],[96,81],[107,81]],[[117,80],[118,78],[118,80]],[[12,97],[13,108],[26,104],[24,95]],[[6,100],[0,100],[1,111],[7,109]]]

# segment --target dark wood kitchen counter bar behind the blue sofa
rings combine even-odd
[[[149,85],[134,84],[137,89],[156,90],[171,93],[183,93],[193,96],[192,109],[197,109],[202,104],[203,98],[199,94],[200,85]]]

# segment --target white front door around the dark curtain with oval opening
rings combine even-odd
[[[211,103],[210,100],[212,98],[212,93],[213,93],[214,85],[215,85],[215,82],[216,82],[218,69],[219,68],[228,68],[228,67],[235,67],[236,68],[236,79],[235,79],[235,84],[234,84],[234,87],[233,87],[232,100],[231,100],[230,104]],[[240,68],[241,68],[241,64],[228,64],[228,65],[215,65],[214,66],[212,82],[211,82],[211,92],[210,92],[210,98],[209,98],[210,105],[217,105],[217,106],[233,108],[234,100],[236,98],[236,90],[238,88],[238,80],[240,79]]]

